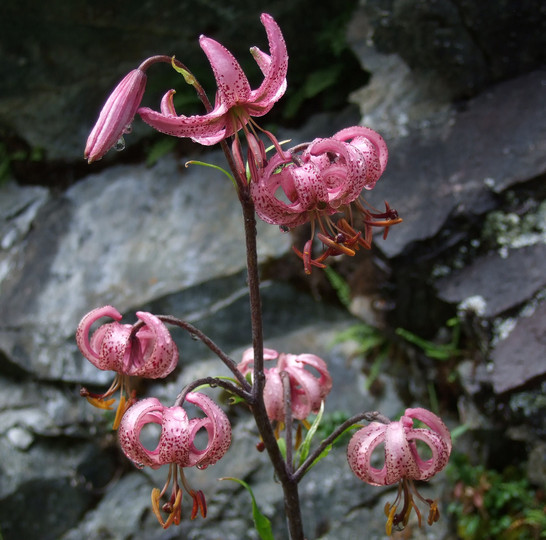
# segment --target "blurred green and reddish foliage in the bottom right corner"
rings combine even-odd
[[[546,538],[546,503],[523,470],[502,473],[473,466],[454,453],[447,469],[454,484],[449,513],[463,540],[536,540]]]

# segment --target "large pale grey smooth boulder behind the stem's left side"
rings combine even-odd
[[[12,361],[49,379],[104,383],[72,339],[87,311],[112,303],[123,312],[244,268],[232,185],[211,169],[179,167],[173,158],[114,167],[41,205],[24,249],[4,262],[20,268],[0,292],[0,348]],[[289,249],[275,227],[259,230],[262,261]]]

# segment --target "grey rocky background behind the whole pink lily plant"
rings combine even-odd
[[[381,208],[388,200],[404,218],[372,251],[335,261],[349,298],[324,273],[303,275],[291,252],[298,238],[260,224],[266,344],[328,361],[331,425],[362,410],[396,416],[420,404],[455,430],[451,472],[423,488],[441,498],[441,521],[432,529],[412,521],[400,538],[500,537],[465,528],[472,517],[491,524],[483,501],[508,493],[488,484],[491,476],[479,486],[462,478],[456,465],[465,459],[474,471],[515,471],[538,512],[544,507],[541,0],[363,0],[338,2],[336,11],[310,0],[10,0],[0,7],[4,540],[256,538],[248,494],[222,476],[248,481],[276,537],[285,537],[279,486],[237,407],[228,408],[226,457],[188,474],[205,491],[209,516],[190,522],[186,504],[180,527],[163,531],[149,496],[166,472],[134,469],[111,418],[79,397],[81,385],[102,388],[110,374],[84,362],[74,343],[82,315],[111,303],[128,320],[143,308],[184,317],[235,358],[249,346],[231,185],[212,169],[184,167],[191,158],[221,164],[221,155],[136,122],[124,152],[92,166],[82,153],[105,97],[144,57],[176,54],[207,87],[198,34],[250,59],[250,45],[265,47],[265,10],[290,54],[290,90],[269,127],[295,142],[359,122],[380,131],[391,158],[369,201]],[[177,87],[179,106],[196,107],[170,70],[157,68],[150,81],[149,104]],[[222,373],[200,343],[176,338],[180,368],[164,384],[143,382],[143,394],[169,402],[194,378]],[[363,485],[340,446],[301,493],[308,538],[356,538],[363,527],[383,538],[395,488]],[[517,505],[501,514],[507,527],[525,522]],[[513,538],[538,530],[529,518]]]

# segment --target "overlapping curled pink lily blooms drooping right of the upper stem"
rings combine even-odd
[[[389,227],[402,220],[386,203],[384,213],[371,212],[361,198],[372,189],[385,170],[387,145],[375,131],[353,126],[327,139],[315,139],[287,152],[277,152],[262,170],[256,169],[250,189],[258,216],[284,230],[307,222],[312,235],[302,252],[305,271],[324,268],[329,256],[354,255],[359,246],[369,249],[372,227]],[[337,221],[332,216],[341,215]],[[354,228],[360,216],[364,231]],[[311,256],[315,227],[325,251]]]

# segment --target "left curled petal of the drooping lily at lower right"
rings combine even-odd
[[[387,484],[386,468],[372,467],[371,458],[374,450],[385,441],[387,424],[372,422],[358,430],[349,441],[347,447],[347,460],[353,472],[364,482],[373,486]]]

